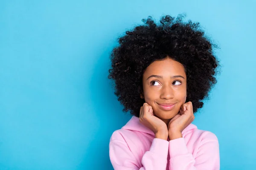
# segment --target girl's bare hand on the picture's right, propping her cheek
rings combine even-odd
[[[192,102],[184,103],[168,124],[169,139],[182,137],[182,131],[195,119]]]

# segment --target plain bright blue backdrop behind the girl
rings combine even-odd
[[[216,134],[221,170],[256,167],[255,0],[1,0],[0,170],[112,170],[130,119],[108,80],[117,38],[143,18],[186,13],[220,49],[194,124]]]

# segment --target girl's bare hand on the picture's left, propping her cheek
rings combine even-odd
[[[167,140],[168,129],[166,123],[154,115],[152,106],[148,103],[144,103],[140,107],[140,123],[152,130],[156,138]]]

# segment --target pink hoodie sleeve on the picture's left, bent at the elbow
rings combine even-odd
[[[140,163],[125,141],[113,140],[109,144],[109,156],[114,170],[166,170],[168,147],[167,140],[154,138]]]

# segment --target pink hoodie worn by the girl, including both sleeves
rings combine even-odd
[[[214,133],[190,124],[182,138],[157,139],[132,116],[113,132],[109,156],[115,170],[219,170],[219,144]]]

